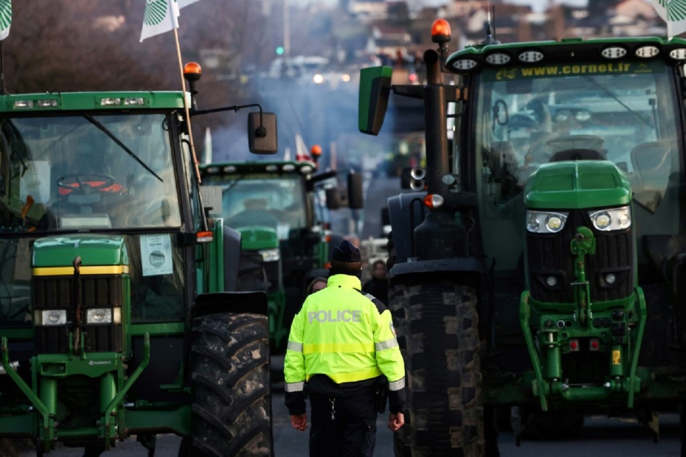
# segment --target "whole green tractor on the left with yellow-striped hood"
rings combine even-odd
[[[0,97],[0,437],[272,453],[266,295],[221,268],[239,244],[205,217],[184,108],[181,92]],[[274,115],[248,117],[276,152]]]

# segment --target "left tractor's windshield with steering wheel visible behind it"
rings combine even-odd
[[[0,231],[178,227],[163,114],[0,121]]]

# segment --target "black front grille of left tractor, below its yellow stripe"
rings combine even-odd
[[[66,325],[34,326],[36,353],[69,352],[69,332],[75,327],[76,303],[73,299],[73,277],[34,277],[33,307],[66,309]],[[88,308],[113,308],[123,305],[123,277],[114,275],[81,275],[81,329],[86,352],[121,351],[121,323],[87,324]]]

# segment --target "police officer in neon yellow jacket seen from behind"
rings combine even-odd
[[[304,431],[307,383],[310,456],[374,454],[381,382],[388,388],[388,427],[405,423],[405,364],[390,311],[361,292],[361,274],[359,250],[342,242],[333,250],[327,287],[307,297],[291,326],[285,403],[291,425]]]

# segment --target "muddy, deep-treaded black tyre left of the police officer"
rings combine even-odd
[[[182,445],[184,455],[272,455],[269,382],[266,316],[197,318],[191,331],[193,436]]]

